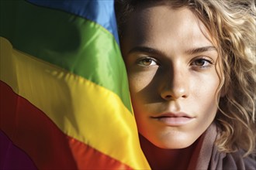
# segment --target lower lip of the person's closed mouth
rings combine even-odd
[[[182,126],[188,124],[194,118],[192,117],[155,117],[157,121],[160,121],[168,126]]]

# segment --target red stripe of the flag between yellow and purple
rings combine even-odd
[[[26,151],[36,167],[131,169],[64,134],[46,114],[14,93],[12,88],[2,81],[0,93],[0,128],[16,146]]]

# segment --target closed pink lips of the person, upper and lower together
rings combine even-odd
[[[159,114],[151,118],[168,126],[182,126],[194,120],[195,117],[179,112]]]

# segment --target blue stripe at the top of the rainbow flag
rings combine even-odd
[[[61,9],[98,23],[109,30],[119,43],[114,0],[27,0],[34,5]]]

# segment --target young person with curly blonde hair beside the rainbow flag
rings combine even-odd
[[[255,5],[116,2],[123,59],[153,169],[255,169]]]

